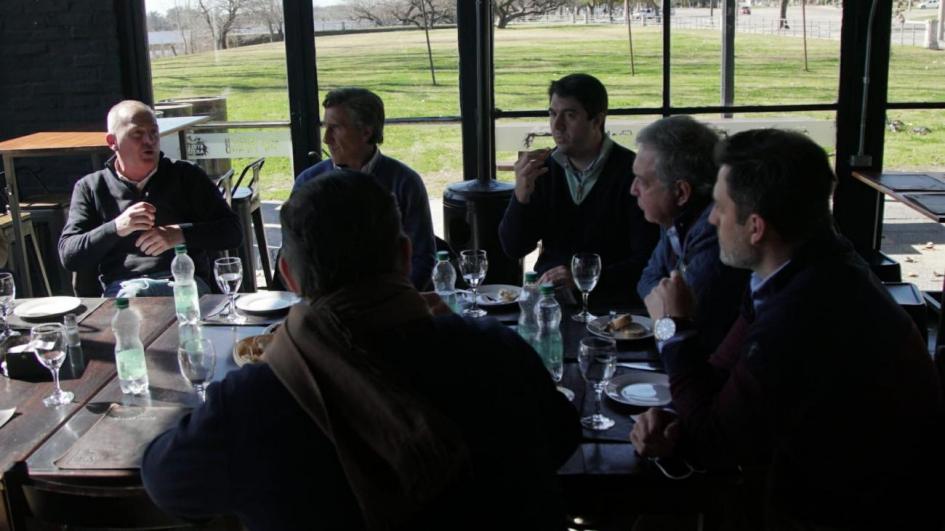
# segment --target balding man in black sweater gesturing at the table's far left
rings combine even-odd
[[[154,111],[140,101],[112,107],[106,141],[115,156],[73,189],[62,265],[97,269],[106,297],[171,295],[173,249],[185,244],[198,289],[209,292],[206,251],[240,245],[236,214],[203,170],[161,153]]]

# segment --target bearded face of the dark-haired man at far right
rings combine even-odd
[[[760,263],[760,252],[751,244],[751,233],[745,223],[738,223],[735,201],[728,193],[730,168],[723,165],[712,189],[715,206],[709,214],[709,223],[715,225],[719,237],[719,260],[727,266],[752,269]]]

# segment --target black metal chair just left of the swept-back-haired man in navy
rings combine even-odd
[[[243,261],[243,284],[240,291],[256,291],[256,260],[253,256],[253,233],[256,235],[256,244],[259,246],[259,260],[262,262],[263,276],[266,287],[272,287],[272,266],[269,261],[269,246],[266,243],[266,227],[262,219],[262,201],[259,198],[259,173],[265,164],[265,157],[255,160],[243,168],[239,179],[232,188],[231,206],[240,218],[240,228],[243,230],[243,244],[239,249],[240,260]],[[252,176],[246,186],[240,186],[247,173]]]

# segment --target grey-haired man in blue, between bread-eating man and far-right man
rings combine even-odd
[[[660,226],[660,241],[637,293],[650,317],[663,317],[653,288],[678,271],[695,295],[696,328],[709,348],[721,343],[732,326],[748,285],[748,271],[719,260],[719,239],[709,223],[718,141],[712,129],[689,116],[653,122],[637,134],[630,188],[646,220]]]

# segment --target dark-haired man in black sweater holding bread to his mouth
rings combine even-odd
[[[548,87],[554,150],[523,153],[515,194],[499,224],[505,253],[522,258],[541,242],[539,282],[574,289],[571,257],[597,253],[597,304],[639,303],[634,286],[659,238],[630,196],[634,154],[604,131],[607,90],[593,76],[571,74]]]

